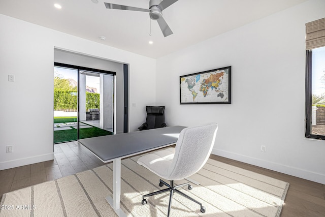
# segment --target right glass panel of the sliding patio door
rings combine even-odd
[[[114,132],[114,76],[79,71],[79,139]]]

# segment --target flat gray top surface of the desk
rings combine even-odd
[[[175,126],[78,140],[103,162],[124,158],[177,142],[186,127]]]

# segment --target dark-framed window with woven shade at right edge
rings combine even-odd
[[[306,23],[306,137],[325,139],[325,18]]]

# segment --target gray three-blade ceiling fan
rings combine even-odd
[[[149,12],[149,16],[152,20],[157,20],[161,32],[163,32],[164,36],[167,37],[172,35],[173,32],[171,28],[168,26],[167,22],[163,18],[163,13],[161,11],[165,10],[169,6],[173,5],[178,0],[150,0],[149,9],[144,8],[136,8],[125,5],[116,5],[112,3],[104,3],[107,9],[118,9],[118,10],[128,10],[128,11],[143,11]]]

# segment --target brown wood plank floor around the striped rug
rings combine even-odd
[[[1,170],[0,197],[7,192],[104,165],[78,142],[55,144],[54,156],[53,161]],[[284,201],[282,217],[325,216],[324,184],[215,155],[211,155],[210,158],[289,182],[290,187]]]

